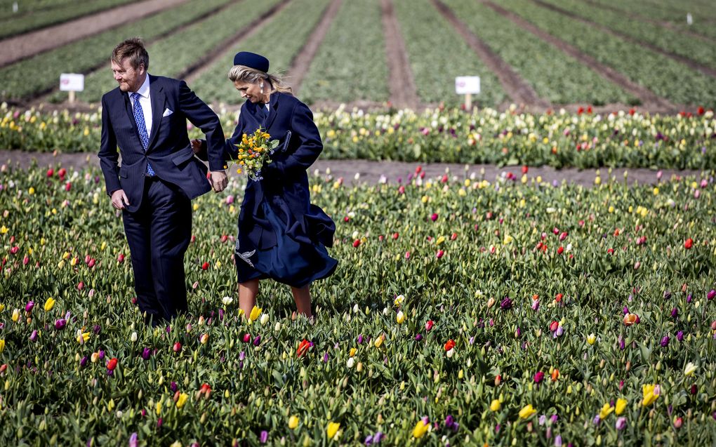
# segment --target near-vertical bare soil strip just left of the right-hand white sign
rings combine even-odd
[[[405,41],[400,34],[397,19],[393,13],[392,0],[381,0],[383,34],[385,36],[385,55],[390,71],[390,102],[399,108],[415,109],[420,104],[417,97],[415,79],[407,59]]]

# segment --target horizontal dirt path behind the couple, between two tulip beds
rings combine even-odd
[[[65,169],[82,170],[86,167],[99,167],[100,159],[97,154],[57,154],[56,156],[47,153],[22,152],[0,150],[0,163],[7,164],[13,168],[28,169],[37,163],[39,170],[47,170],[47,167],[56,167],[58,164]],[[416,168],[420,166],[425,171],[425,180],[442,177],[446,173],[449,177],[457,176],[458,179],[469,178],[485,179],[493,182],[502,177],[503,174],[511,172],[514,178],[519,179],[522,175],[520,166],[497,167],[493,164],[457,164],[457,163],[409,163],[409,162],[371,162],[367,160],[327,160],[319,159],[311,166],[309,174],[313,175],[316,170],[324,179],[343,179],[346,185],[358,185],[367,183],[375,185],[380,182],[391,184],[406,183],[415,176]],[[584,187],[594,186],[594,178],[597,170],[576,170],[563,169],[555,170],[552,167],[530,167],[528,180],[541,177],[544,182],[551,185],[559,185],[567,182]],[[236,170],[228,170],[229,175],[238,177]],[[601,168],[599,176],[602,182],[614,178],[624,182],[624,172],[627,172],[629,185],[653,185],[659,182],[657,172],[647,169],[614,169]],[[698,170],[664,170],[662,180],[676,176],[694,175],[699,176]],[[519,181],[519,180],[517,180]]]

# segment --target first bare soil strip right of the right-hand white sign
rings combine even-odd
[[[495,54],[487,44],[478,39],[478,36],[475,36],[475,34],[453,14],[453,11],[451,11],[448,6],[445,6],[440,0],[432,0],[432,3],[435,4],[440,14],[445,16],[445,19],[448,19],[448,21],[455,26],[455,29],[463,36],[463,39],[465,39],[475,53],[478,54],[478,57],[480,57],[480,59],[485,62],[485,65],[498,77],[502,88],[513,102],[516,104],[541,107],[543,109],[549,107],[549,102],[546,99],[538,97],[534,89],[532,89],[509,64]]]

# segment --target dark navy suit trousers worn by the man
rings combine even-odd
[[[191,200],[180,187],[146,177],[142,204],[122,212],[137,304],[157,323],[188,310],[184,253],[191,238]]]

